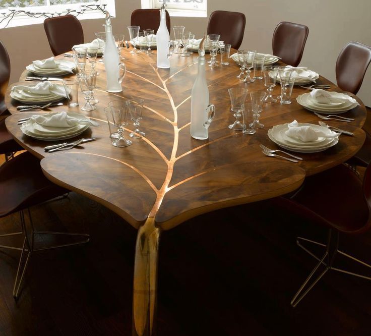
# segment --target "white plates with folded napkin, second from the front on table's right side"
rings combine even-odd
[[[317,116],[318,114],[342,114],[359,105],[356,99],[346,93],[326,91],[323,89],[314,89],[309,93],[301,94],[296,98],[296,101],[307,110],[314,112]],[[340,121],[349,120],[349,118],[339,116],[336,116],[336,118],[339,118]]]

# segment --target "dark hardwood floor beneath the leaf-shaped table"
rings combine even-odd
[[[136,230],[75,193],[32,214],[38,229],[89,232],[91,239],[34,253],[17,302],[19,252],[0,249],[0,336],[131,335]],[[16,214],[0,219],[0,233],[18,224]],[[291,308],[315,265],[296,246],[298,235],[324,242],[326,230],[282,216],[270,202],[164,232],[158,335],[371,335],[371,282],[364,279],[330,272]],[[342,250],[371,263],[371,232],[342,238]]]

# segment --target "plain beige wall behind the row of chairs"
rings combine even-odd
[[[113,31],[129,36],[131,12],[140,8],[140,0],[116,0]],[[281,21],[309,27],[301,65],[310,67],[336,82],[335,62],[345,43],[351,40],[371,45],[370,0],[208,0],[208,14],[215,10],[243,12],[246,28],[241,48],[272,51],[272,34]],[[207,18],[171,18],[172,25],[183,25],[197,36],[206,32]],[[102,31],[103,19],[83,20],[85,40]],[[11,57],[11,82],[16,82],[24,67],[36,59],[51,56],[42,25],[0,29],[0,39]],[[358,96],[371,106],[371,67],[368,69]]]

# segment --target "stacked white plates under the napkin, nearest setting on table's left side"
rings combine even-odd
[[[69,113],[69,116],[86,119],[85,116],[79,115],[77,113]],[[72,127],[48,127],[36,123],[33,120],[21,125],[21,130],[23,134],[26,134],[34,139],[43,140],[43,141],[59,141],[70,139],[76,137],[77,135],[83,133],[89,128],[89,125],[74,125]]]

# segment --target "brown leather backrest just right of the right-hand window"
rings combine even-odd
[[[238,49],[245,31],[246,17],[243,13],[215,11],[211,13],[207,25],[208,34],[220,35],[220,40]]]

